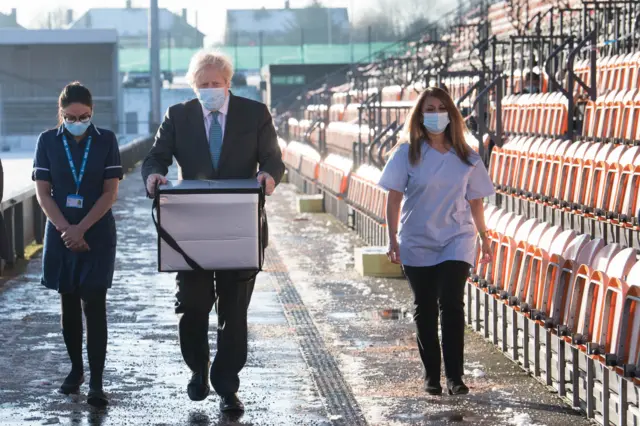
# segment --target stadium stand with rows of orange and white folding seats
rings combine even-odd
[[[386,154],[445,87],[497,193],[468,325],[599,424],[637,426],[640,3],[468,0],[400,43],[276,117],[291,182],[385,245]]]

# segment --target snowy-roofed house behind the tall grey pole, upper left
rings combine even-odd
[[[205,35],[187,22],[187,9],[176,15],[168,9],[159,9],[160,47],[199,49]],[[147,48],[149,9],[131,7],[89,9],[69,25],[70,29],[111,29],[118,32],[120,47]]]

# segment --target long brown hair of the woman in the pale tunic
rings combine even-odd
[[[424,101],[428,97],[438,99],[446,108],[449,113],[449,125],[445,129],[445,137],[447,141],[453,145],[453,149],[456,151],[460,160],[465,164],[471,165],[469,162],[471,147],[467,145],[465,140],[467,126],[464,123],[464,118],[453,103],[453,99],[451,99],[449,93],[438,87],[428,87],[420,94],[420,97],[418,97],[418,100],[409,112],[409,119],[404,124],[403,134],[396,148],[399,148],[402,144],[409,144],[409,161],[412,165],[418,164],[420,158],[422,158],[422,142],[429,140],[429,134],[423,124],[422,113]]]

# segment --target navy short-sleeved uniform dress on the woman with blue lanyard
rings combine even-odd
[[[66,206],[67,196],[76,193],[76,184],[62,142],[63,135],[67,138],[76,173],[80,172],[88,138],[92,138],[80,184],[79,195],[84,197],[82,208]],[[85,138],[76,142],[64,126],[60,126],[38,137],[32,179],[51,182],[53,199],[69,224],[80,223],[102,195],[104,181],[114,178],[122,179],[122,165],[113,132],[92,124]],[[116,224],[111,210],[87,230],[84,239],[90,250],[75,253],[65,247],[60,232],[47,221],[42,258],[42,284],[45,287],[60,293],[80,291],[83,295],[104,292],[111,287],[116,256]]]

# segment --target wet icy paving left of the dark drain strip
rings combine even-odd
[[[218,399],[192,402],[173,313],[175,281],[156,272],[150,204],[137,174],[122,183],[115,208],[119,250],[109,293],[105,390],[112,405],[95,413],[56,393],[68,372],[58,296],[38,284],[40,265],[0,293],[0,424],[218,424]],[[250,355],[241,374],[247,414],[240,424],[326,424],[322,403],[269,273],[260,275],[249,316]],[[211,343],[215,350],[215,315]],[[86,364],[86,354],[85,354]],[[88,370],[88,368],[87,368]],[[212,422],[212,423],[210,423]],[[219,424],[225,424],[221,421]]]

